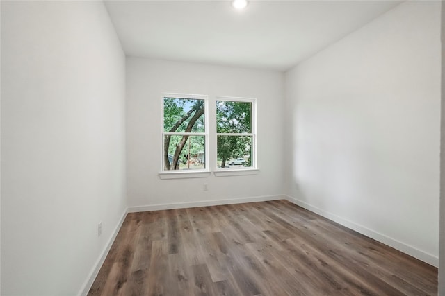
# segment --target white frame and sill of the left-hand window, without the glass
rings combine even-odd
[[[164,131],[164,98],[181,98],[192,100],[204,100],[204,132],[165,132]],[[161,172],[159,177],[161,179],[180,179],[190,177],[209,177],[209,96],[202,94],[175,94],[175,93],[163,93],[161,96]],[[189,136],[204,136],[205,146],[205,167],[202,170],[164,170],[164,139],[165,136],[183,136],[184,134]]]

